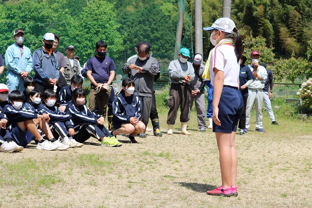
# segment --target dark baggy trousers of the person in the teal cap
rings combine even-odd
[[[191,88],[189,84],[171,83],[170,94],[168,98],[168,117],[167,124],[174,125],[176,123],[177,110],[180,106],[180,122],[189,121]]]

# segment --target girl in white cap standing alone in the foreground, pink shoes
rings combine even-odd
[[[207,194],[237,196],[235,134],[244,106],[238,89],[242,39],[234,21],[229,18],[220,18],[211,27],[204,29],[211,31],[210,41],[215,46],[210,51],[208,65],[206,64],[209,66],[210,73],[204,73],[206,76],[203,78],[210,78],[214,85],[213,131],[219,149],[222,179],[222,186],[208,190]]]

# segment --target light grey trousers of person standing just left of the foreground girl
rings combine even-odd
[[[198,128],[206,128],[205,94],[198,93],[196,96],[191,95],[189,120],[190,120],[191,110],[192,110],[194,101],[195,101],[195,107],[196,107],[196,112],[197,112]]]

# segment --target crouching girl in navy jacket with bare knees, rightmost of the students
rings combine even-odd
[[[112,135],[130,134],[132,143],[138,143],[135,135],[145,131],[145,124],[141,119],[141,101],[134,95],[135,83],[131,79],[122,81],[121,93],[113,102],[113,126],[116,130]]]

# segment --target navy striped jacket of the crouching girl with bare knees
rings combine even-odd
[[[115,98],[113,102],[113,120],[121,124],[130,123],[131,117],[141,120],[141,101],[135,94],[125,97],[125,92]]]

